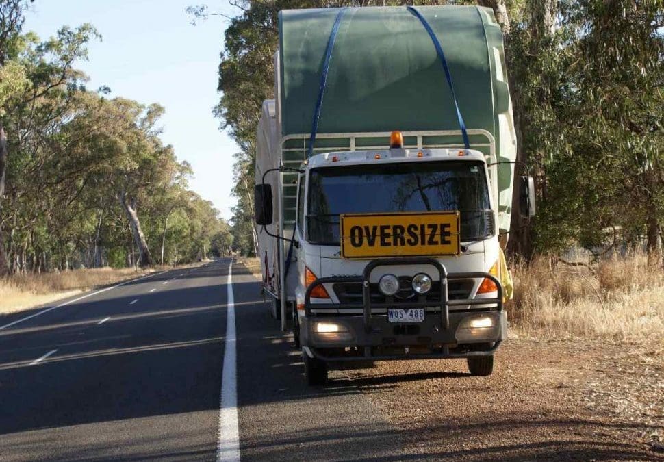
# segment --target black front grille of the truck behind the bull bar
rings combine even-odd
[[[411,278],[400,277],[400,290],[393,298],[395,305],[400,303],[407,304],[408,302],[418,301],[418,294],[413,292],[411,288]],[[448,281],[448,297],[450,300],[464,300],[470,298],[470,292],[474,285],[473,279],[461,279],[458,281]],[[362,305],[362,284],[361,283],[334,283],[332,285],[334,293],[339,298],[339,303],[344,304],[357,304]],[[440,283],[434,281],[431,290],[426,294],[426,301],[432,304],[439,303]],[[378,284],[370,285],[371,303],[388,303],[387,297],[384,296]]]

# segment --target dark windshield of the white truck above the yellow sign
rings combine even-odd
[[[398,211],[461,214],[461,241],[494,233],[481,162],[417,162],[314,168],[309,173],[307,240],[339,245],[339,215]]]

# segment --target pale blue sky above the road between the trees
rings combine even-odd
[[[164,106],[162,140],[192,165],[190,189],[229,219],[233,154],[240,149],[212,116],[227,20],[211,16],[191,25],[185,9],[202,1],[36,0],[23,29],[45,39],[63,25],[94,25],[102,40],[91,42],[88,62],[75,66],[90,77],[87,88],[108,86],[111,97]],[[227,0],[209,3],[211,12],[239,12]]]

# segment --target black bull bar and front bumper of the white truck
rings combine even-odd
[[[432,265],[439,272],[439,303],[418,302],[372,303],[369,277],[376,267],[393,264]],[[496,298],[449,300],[448,280],[485,277],[496,284]],[[330,307],[311,303],[311,291],[325,283],[361,283],[362,305],[333,304],[337,309],[361,308],[362,316],[322,316],[312,309]],[[451,311],[451,307],[481,305],[482,309]],[[487,306],[491,308],[486,308]],[[372,314],[374,309],[424,308],[422,322],[395,324],[386,314]],[[435,309],[435,311],[431,311]],[[470,327],[472,318],[482,318],[480,327]],[[318,322],[331,322],[339,332],[316,332]],[[487,324],[490,324],[487,326]],[[305,316],[300,318],[301,343],[312,356],[324,361],[377,361],[383,359],[457,358],[492,355],[500,342],[507,338],[507,316],[502,309],[502,286],[491,274],[468,272],[448,274],[439,261],[428,257],[384,259],[370,262],[361,277],[326,277],[316,280],[305,294]]]

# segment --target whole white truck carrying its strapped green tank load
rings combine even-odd
[[[274,81],[257,127],[258,256],[307,383],[400,359],[491,374],[511,214],[535,214],[493,12],[283,10]]]

